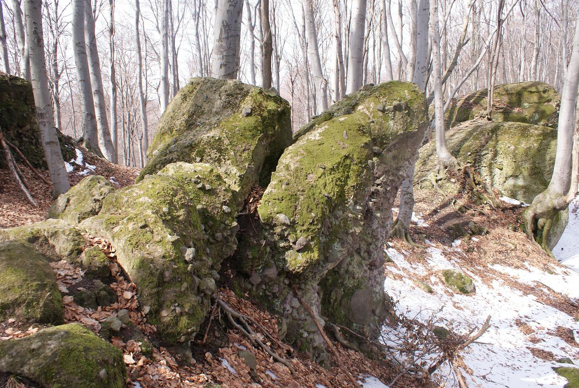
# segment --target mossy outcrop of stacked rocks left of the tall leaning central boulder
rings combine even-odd
[[[186,342],[237,247],[245,197],[267,184],[291,141],[287,101],[236,80],[195,78],[163,114],[137,183],[112,191],[85,178],[50,216],[111,240],[148,322],[164,341]]]

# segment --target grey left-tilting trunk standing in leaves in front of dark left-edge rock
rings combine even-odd
[[[25,0],[24,3],[28,53],[31,63],[31,83],[41,132],[42,148],[52,180],[53,197],[65,193],[70,188],[67,170],[64,167],[63,154],[54,126],[46,58],[44,54],[44,35],[42,32],[42,11],[40,0]]]

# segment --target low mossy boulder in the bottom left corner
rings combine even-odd
[[[1,341],[0,371],[46,388],[123,388],[127,377],[123,352],[78,323]]]

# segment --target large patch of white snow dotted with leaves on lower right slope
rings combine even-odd
[[[492,316],[491,327],[478,339],[480,343],[473,343],[461,352],[472,371],[471,374],[462,371],[471,387],[563,387],[567,380],[555,374],[552,367],[572,365],[546,361],[533,353],[548,354],[550,356],[545,358],[551,360],[570,357],[579,364],[577,343],[572,340],[567,343],[560,338],[560,331],[567,328],[577,339],[579,323],[569,314],[542,303],[535,295],[521,289],[530,285],[540,287],[542,292],[556,292],[576,299],[579,298],[579,273],[555,265],[551,265],[552,270],[543,272],[529,263],[525,263],[526,269],[496,264],[472,268],[462,261],[466,254],[460,245],[448,248],[428,243],[430,247],[418,260],[405,251],[387,250],[394,263],[388,266],[389,277],[384,288],[394,301],[398,301],[397,313],[417,316],[421,321],[436,314],[457,334],[467,334],[472,328],[478,330],[486,316]],[[475,294],[456,294],[450,290],[439,276],[441,269],[456,269],[468,274],[475,283]],[[485,276],[479,277],[477,273]],[[432,293],[415,283],[417,276],[423,279],[430,276],[428,283]],[[442,310],[438,312],[439,309]],[[439,378],[448,378],[448,368],[441,369]],[[450,378],[445,386],[458,385]]]

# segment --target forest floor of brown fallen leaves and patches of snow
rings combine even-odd
[[[80,149],[67,167],[72,183],[85,175],[101,174],[121,187],[131,184],[138,174],[136,169],[112,165]],[[26,167],[21,169],[33,182],[32,196],[41,205],[33,208],[25,202],[8,171],[0,170],[0,228],[40,221],[52,202],[52,189]],[[415,196],[417,217],[413,218],[412,234],[416,241],[424,240],[424,247],[411,248],[399,239],[391,239],[384,247],[391,259],[384,265],[384,290],[393,298],[398,318],[384,326],[382,341],[404,351],[391,351],[393,361],[387,363],[370,360],[335,343],[346,368],[364,387],[373,388],[387,387],[394,379],[393,387],[458,387],[457,373],[470,387],[563,387],[567,380],[552,368],[573,367],[558,363],[561,358],[579,360],[579,273],[550,258],[522,232],[512,230],[515,229],[512,225],[518,225],[522,210],[519,205],[504,203],[494,210],[475,206],[458,195],[453,199],[472,207],[460,213],[452,206],[452,200],[431,189],[416,186]],[[569,259],[569,263],[579,261],[577,207],[578,203],[571,206],[569,227],[554,250],[556,255],[563,252],[565,256],[559,258]],[[453,236],[456,230],[453,225],[464,226],[469,222],[486,228],[486,233],[461,239]],[[134,333],[122,330],[111,338],[113,345],[124,352],[130,379],[127,387],[197,387],[207,383],[226,387],[349,386],[346,375],[335,363],[330,369],[321,368],[305,354],[279,341],[276,319],[226,288],[218,291],[218,298],[259,323],[258,335],[267,340],[274,352],[290,361],[295,373],[256,349],[239,332],[230,330],[217,308],[196,339],[192,359],[179,356],[182,352],[176,349],[165,349],[155,342],[155,328],[146,324],[135,297],[138,290],[123,277],[114,248],[98,236],[85,237],[87,247],[97,245],[111,257],[115,281],[110,285],[118,295],[118,302],[97,310],[76,305],[68,295],[68,288],[83,280],[82,270],[64,261],[55,262],[51,265],[63,291],[65,319],[81,322],[98,332],[102,320],[121,309],[129,310],[131,321],[156,346],[153,355],[145,357],[141,343],[131,339]],[[447,287],[443,272],[448,269],[470,276],[475,291],[466,295]],[[445,338],[462,341],[479,330],[489,315],[490,328],[453,355],[452,364],[447,360],[448,354],[439,352],[444,341],[433,340],[431,335],[417,335],[423,328],[434,330],[438,326],[450,331]],[[5,321],[0,323],[0,339],[20,338],[40,328]],[[424,352],[425,348],[430,352]],[[241,359],[240,352],[244,350],[254,354],[254,368]],[[437,360],[441,360],[440,365],[427,382],[413,374],[418,368],[411,364],[424,367]]]

